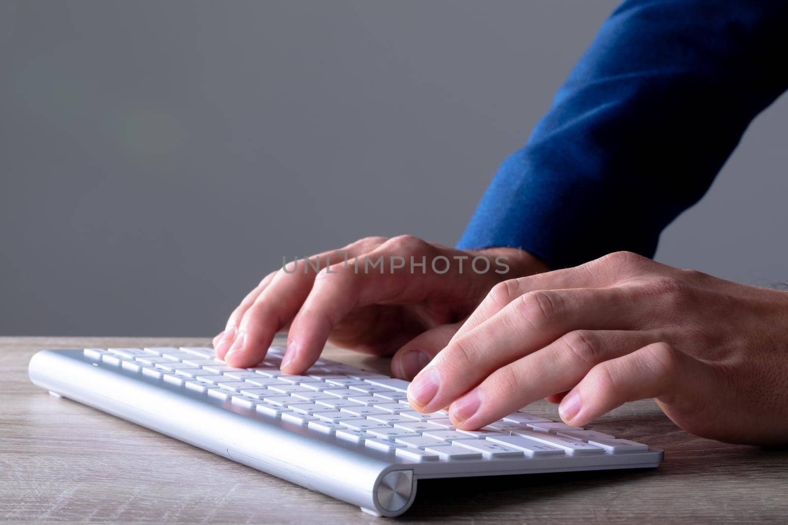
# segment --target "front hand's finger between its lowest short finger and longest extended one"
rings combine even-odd
[[[497,369],[454,401],[449,417],[459,428],[481,428],[542,397],[566,392],[589,370],[654,342],[648,331],[572,331],[545,348]]]

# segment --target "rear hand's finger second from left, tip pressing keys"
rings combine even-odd
[[[274,272],[270,282],[251,304],[245,309],[239,307],[237,313],[233,312],[232,326],[237,328],[232,344],[219,357],[241,368],[258,364],[266,355],[273,336],[292,320],[309,295],[315,275],[318,275],[315,268],[322,268],[332,258],[334,262],[343,260],[344,252],[348,257],[354,257],[383,242],[385,238],[382,237],[362,238],[340,250],[318,253],[309,257],[308,262],[299,260]]]

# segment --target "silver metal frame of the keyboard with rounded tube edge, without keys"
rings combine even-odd
[[[96,362],[83,349],[42,350],[32,357],[29,374],[52,394],[348,501],[374,516],[407,511],[419,479],[653,468],[663,460],[663,450],[649,446],[633,453],[414,462]]]

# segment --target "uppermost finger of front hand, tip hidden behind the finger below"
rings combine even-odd
[[[654,261],[635,253],[616,252],[574,268],[539,273],[509,279],[496,284],[487,297],[470,315],[456,337],[484,323],[515,298],[535,290],[559,290],[565,288],[602,288],[619,283],[622,279],[637,275]]]

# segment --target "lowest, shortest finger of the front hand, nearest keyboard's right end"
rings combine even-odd
[[[559,406],[561,419],[582,426],[627,401],[671,394],[678,385],[702,377],[700,364],[658,342],[597,364]]]

